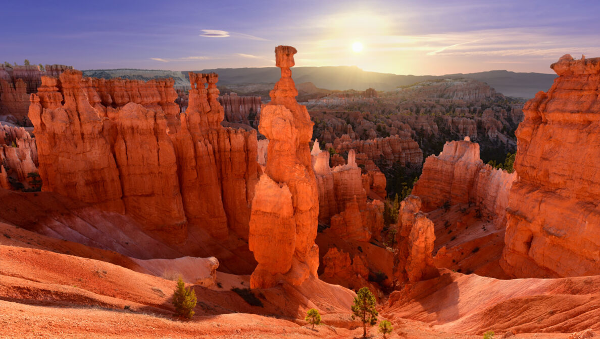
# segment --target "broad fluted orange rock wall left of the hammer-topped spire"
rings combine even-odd
[[[82,78],[73,69],[41,80],[29,119],[43,190],[131,214],[169,242],[190,228],[247,239],[256,133],[220,125],[216,74],[190,75],[181,115],[173,80]]]

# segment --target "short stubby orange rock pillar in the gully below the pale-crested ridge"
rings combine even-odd
[[[439,276],[432,255],[436,240],[433,222],[420,209],[421,199],[415,195],[407,196],[400,203],[394,253],[394,277],[400,283],[416,283]]]

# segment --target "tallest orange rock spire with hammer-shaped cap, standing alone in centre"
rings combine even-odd
[[[319,267],[314,244],[319,192],[308,146],[313,122],[295,100],[298,91],[290,71],[295,53],[290,46],[275,48],[281,78],[270,93],[271,102],[261,108],[259,131],[269,146],[250,216],[250,249],[258,262],[252,288],[272,287],[280,280],[299,285],[316,276]]]

